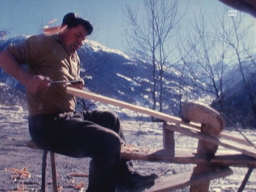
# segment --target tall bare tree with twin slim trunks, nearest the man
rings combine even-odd
[[[138,10],[134,11],[126,4],[125,16],[127,21],[126,35],[130,47],[136,48],[146,55],[147,61],[152,64],[151,94],[153,106],[156,110],[163,110],[163,75],[168,68],[166,61],[171,52],[167,39],[176,33],[182,15],[178,13],[178,0],[144,0],[145,15],[139,18]],[[158,92],[157,86],[160,90]],[[157,96],[159,99],[157,99]]]

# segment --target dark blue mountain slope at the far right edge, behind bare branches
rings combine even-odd
[[[256,55],[252,56],[252,60],[256,60]],[[254,102],[256,103],[256,64],[252,60],[245,59],[241,62],[246,85],[243,81],[241,69],[238,64],[229,70],[226,75],[226,78],[227,76],[233,78],[232,86],[225,95],[224,112],[225,114],[228,114],[230,119],[244,127],[256,126],[252,101],[249,98],[249,94],[252,95]]]

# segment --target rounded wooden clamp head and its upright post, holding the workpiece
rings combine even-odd
[[[182,116],[188,121],[201,123],[201,132],[208,135],[219,135],[224,129],[225,122],[217,111],[203,103],[187,102],[183,104]],[[212,158],[218,149],[218,145],[214,145],[208,140],[199,140],[197,146],[197,154]],[[213,171],[214,167],[210,164],[197,164],[193,170],[193,176]],[[196,185],[191,185],[190,192],[208,192],[211,180]]]

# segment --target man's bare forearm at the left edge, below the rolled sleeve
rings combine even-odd
[[[8,50],[5,50],[0,54],[0,67],[4,70],[4,72],[13,76],[25,86],[32,78],[32,75],[29,74],[28,71],[21,68],[13,54]]]

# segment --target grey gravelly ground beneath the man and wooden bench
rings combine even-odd
[[[30,140],[28,133],[28,112],[18,106],[0,106],[0,191],[8,192],[17,187],[25,187],[26,191],[40,191],[42,151],[26,147]],[[139,147],[162,148],[162,124],[151,122],[122,121],[124,134],[130,145]],[[234,131],[226,131],[238,135]],[[256,142],[255,132],[246,131],[244,134]],[[180,134],[175,134],[176,150],[196,150],[197,140]],[[224,149],[225,150],[225,149]],[[49,159],[48,159],[49,161]],[[58,184],[66,191],[85,191],[88,184],[87,177],[70,177],[70,173],[87,173],[89,171],[89,158],[70,158],[56,155]],[[10,168],[27,168],[29,178],[12,178]],[[160,177],[192,170],[192,164],[167,164],[134,161],[135,169],[141,174],[157,173]],[[247,168],[231,167],[234,174],[222,179],[211,181],[210,191],[232,192],[237,191],[244,179]],[[47,166],[47,189],[52,191],[51,167]],[[84,188],[75,189],[74,186],[84,182]],[[175,191],[189,191],[183,188]],[[256,171],[246,185],[244,191],[256,191]]]

